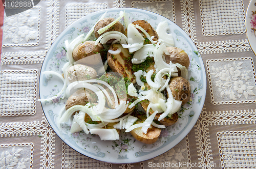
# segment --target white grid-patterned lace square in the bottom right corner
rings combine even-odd
[[[256,130],[218,132],[222,166],[226,166],[225,168],[255,168],[255,133]]]

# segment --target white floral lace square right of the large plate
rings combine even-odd
[[[213,104],[255,102],[252,58],[207,61]]]

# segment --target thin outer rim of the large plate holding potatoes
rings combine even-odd
[[[167,19],[167,18],[165,18],[164,16],[162,16],[162,15],[160,15],[160,14],[157,14],[157,13],[154,13],[154,12],[151,12],[151,11],[147,11],[147,10],[143,10],[143,9],[135,9],[135,8],[111,8],[111,9],[104,9],[104,10],[101,10],[101,11],[98,11],[98,12],[94,12],[94,13],[91,13],[91,14],[88,14],[88,15],[86,15],[86,16],[84,16],[84,17],[92,17],[92,16],[94,16],[94,15],[101,15],[101,14],[103,14],[104,12],[108,12],[108,11],[110,11],[110,12],[116,12],[116,11],[125,11],[125,10],[134,10],[134,11],[136,11],[136,12],[144,12],[144,13],[148,13],[148,14],[151,14],[151,15],[158,15],[160,18],[164,18],[164,19],[166,19],[168,22],[172,22],[173,24],[175,24],[176,26],[178,26],[179,27],[179,29],[181,30],[181,32],[184,32],[182,29],[181,29],[181,27],[179,26],[179,25],[177,25],[176,23],[174,23],[173,21],[171,21],[171,20],[169,20],[169,19]],[[76,24],[76,23],[79,23],[79,22],[81,22],[83,19],[84,19],[84,17],[82,17],[82,18],[80,18],[80,19],[78,19],[77,21],[75,21],[74,23],[72,23],[71,25],[69,25],[62,33],[60,33],[60,35],[55,39],[55,41],[52,43],[52,45],[51,45],[51,47],[50,47],[50,49],[49,49],[49,51],[47,52],[47,54],[46,54],[46,57],[45,57],[45,60],[46,60],[46,58],[48,58],[47,57],[47,55],[48,55],[48,53],[51,53],[51,51],[55,48],[55,46],[59,43],[59,41],[61,40],[61,37],[62,37],[62,35],[65,35],[68,31],[70,31],[70,28],[72,27],[72,25],[73,24]],[[185,32],[184,32],[185,33]],[[186,33],[185,33],[186,34]],[[190,43],[191,43],[191,46],[194,46],[194,48],[195,49],[197,49],[197,47],[196,47],[196,45],[195,45],[195,43],[189,38],[189,36],[186,34],[186,36],[187,36],[187,38],[188,38],[188,40],[190,41]],[[52,46],[54,46],[54,47],[52,47]],[[197,49],[197,51],[198,51],[198,49]],[[40,94],[41,94],[41,92],[40,92],[40,81],[41,81],[41,71],[42,71],[42,69],[44,68],[44,65],[47,65],[47,64],[44,64],[45,63],[45,60],[44,60],[44,62],[42,63],[42,66],[41,66],[41,69],[40,69],[40,76],[39,76],[39,98],[41,98],[40,97]],[[202,101],[205,101],[205,97],[206,97],[206,88],[207,88],[207,82],[206,82],[206,72],[205,72],[205,68],[204,68],[204,62],[203,62],[203,60],[202,60],[202,57],[200,57],[200,59],[199,59],[199,61],[200,61],[200,64],[201,64],[201,66],[203,66],[203,69],[201,69],[201,71],[202,71],[202,78],[201,78],[201,80],[203,79],[203,81],[204,81],[204,84],[203,84],[203,91],[202,91],[202,93],[204,93],[204,95],[202,95]],[[49,123],[49,125],[51,126],[51,128],[54,130],[54,128],[55,127],[53,127],[52,126],[52,120],[50,119],[50,115],[47,113],[47,112],[45,112],[45,110],[44,110],[44,108],[43,108],[43,106],[42,106],[42,103],[40,102],[40,104],[41,104],[41,107],[42,107],[42,111],[44,112],[44,114],[45,114],[45,117],[46,117],[46,120],[48,121],[48,123]],[[202,104],[202,105],[204,105],[204,103]],[[168,145],[166,145],[166,146],[164,146],[163,148],[165,148],[165,147],[167,147],[167,149],[166,150],[164,150],[164,152],[162,152],[162,153],[160,153],[160,154],[157,154],[157,155],[153,155],[153,156],[151,156],[150,158],[147,158],[147,157],[145,157],[145,156],[142,156],[142,157],[139,157],[140,159],[139,160],[134,160],[134,161],[126,161],[126,160],[122,160],[122,161],[118,161],[118,162],[116,162],[116,161],[110,161],[110,160],[104,160],[104,159],[102,159],[102,158],[99,158],[98,156],[90,156],[90,154],[89,153],[87,153],[86,151],[82,151],[81,149],[77,149],[77,147],[76,146],[74,146],[73,144],[68,144],[68,143],[70,143],[69,142],[69,140],[67,140],[65,137],[63,137],[62,136],[62,133],[59,133],[59,131],[58,131],[58,129],[56,130],[54,130],[54,132],[58,135],[58,137],[64,142],[64,143],[66,143],[69,147],[71,147],[73,150],[75,150],[76,152],[78,152],[78,153],[80,153],[80,154],[82,154],[82,155],[85,155],[85,156],[88,156],[88,157],[90,157],[90,158],[93,158],[93,159],[96,159],[96,160],[99,160],[99,161],[104,161],[104,162],[108,162],[108,163],[116,163],[116,164],[120,164],[120,163],[136,163],[136,162],[141,162],[141,161],[145,161],[145,160],[148,160],[148,159],[152,159],[152,158],[154,158],[154,157],[157,157],[157,156],[159,156],[159,155],[161,155],[161,154],[163,154],[163,153],[165,153],[165,152],[167,152],[168,150],[170,150],[170,149],[172,149],[174,146],[176,146],[178,143],[180,143],[181,142],[181,140],[191,131],[191,129],[194,127],[194,125],[196,124],[196,122],[197,122],[197,120],[198,120],[198,118],[199,118],[199,116],[200,116],[200,114],[201,114],[201,111],[202,111],[202,109],[203,109],[203,106],[201,106],[200,107],[200,112],[196,112],[197,113],[197,115],[198,116],[193,116],[193,118],[190,120],[190,122],[189,123],[187,123],[186,124],[186,126],[182,129],[182,131],[179,133],[179,134],[177,134],[178,136],[172,141],[172,145],[170,145],[170,144],[168,144]],[[188,128],[189,127],[189,128]],[[188,129],[187,129],[188,128]],[[187,129],[187,130],[185,130],[185,129]],[[161,148],[160,150],[162,150],[163,148]],[[158,148],[159,149],[159,148]],[[160,151],[160,150],[158,150],[158,151]],[[163,151],[163,150],[162,150]],[[136,158],[136,159],[138,159],[138,158]],[[115,160],[115,159],[114,159]]]

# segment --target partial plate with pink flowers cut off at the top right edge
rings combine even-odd
[[[253,26],[254,25],[254,26]],[[256,0],[251,0],[247,8],[245,27],[251,50],[256,52]]]

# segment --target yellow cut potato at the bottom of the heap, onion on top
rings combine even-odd
[[[138,120],[135,122],[136,124],[143,123],[146,120],[146,114],[143,112],[140,114],[138,111],[136,111],[133,116],[138,118]],[[161,134],[161,129],[152,125],[147,129],[146,134],[141,131],[141,128],[142,127],[135,128],[130,131],[130,133],[134,136],[135,139],[145,144],[155,143]]]

